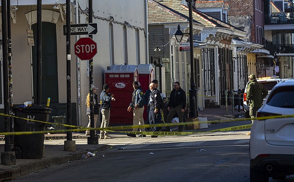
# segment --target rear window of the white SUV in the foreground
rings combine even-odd
[[[275,107],[294,108],[294,87],[281,87],[275,89],[267,104]]]

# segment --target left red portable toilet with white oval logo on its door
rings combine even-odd
[[[133,124],[133,112],[128,112],[134,91],[133,81],[138,81],[138,69],[134,65],[112,65],[104,72],[105,84],[116,101],[111,102],[111,125]]]

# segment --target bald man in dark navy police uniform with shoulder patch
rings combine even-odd
[[[149,89],[151,90],[151,93],[149,95],[148,99],[148,105],[149,105],[149,124],[158,124],[161,123],[161,121],[158,121],[158,116],[160,115],[160,104],[161,104],[161,95],[160,92],[156,89],[155,83],[149,84]],[[152,131],[153,128],[151,128]],[[155,131],[161,130],[161,127],[156,127]]]

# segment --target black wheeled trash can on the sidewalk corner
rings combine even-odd
[[[49,121],[50,107],[33,105],[27,107],[15,107],[14,115],[17,117]],[[46,124],[15,118],[14,131],[44,131]],[[44,145],[43,134],[14,135],[14,148],[16,158],[41,159]]]

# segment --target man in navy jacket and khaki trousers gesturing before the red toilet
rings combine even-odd
[[[104,84],[103,90],[100,94],[100,104],[101,104],[101,114],[102,114],[102,121],[100,128],[107,128],[109,125],[110,119],[110,108],[111,108],[111,101],[115,101],[114,95],[109,92],[109,85]],[[107,139],[112,138],[107,131],[100,131],[99,139]]]

